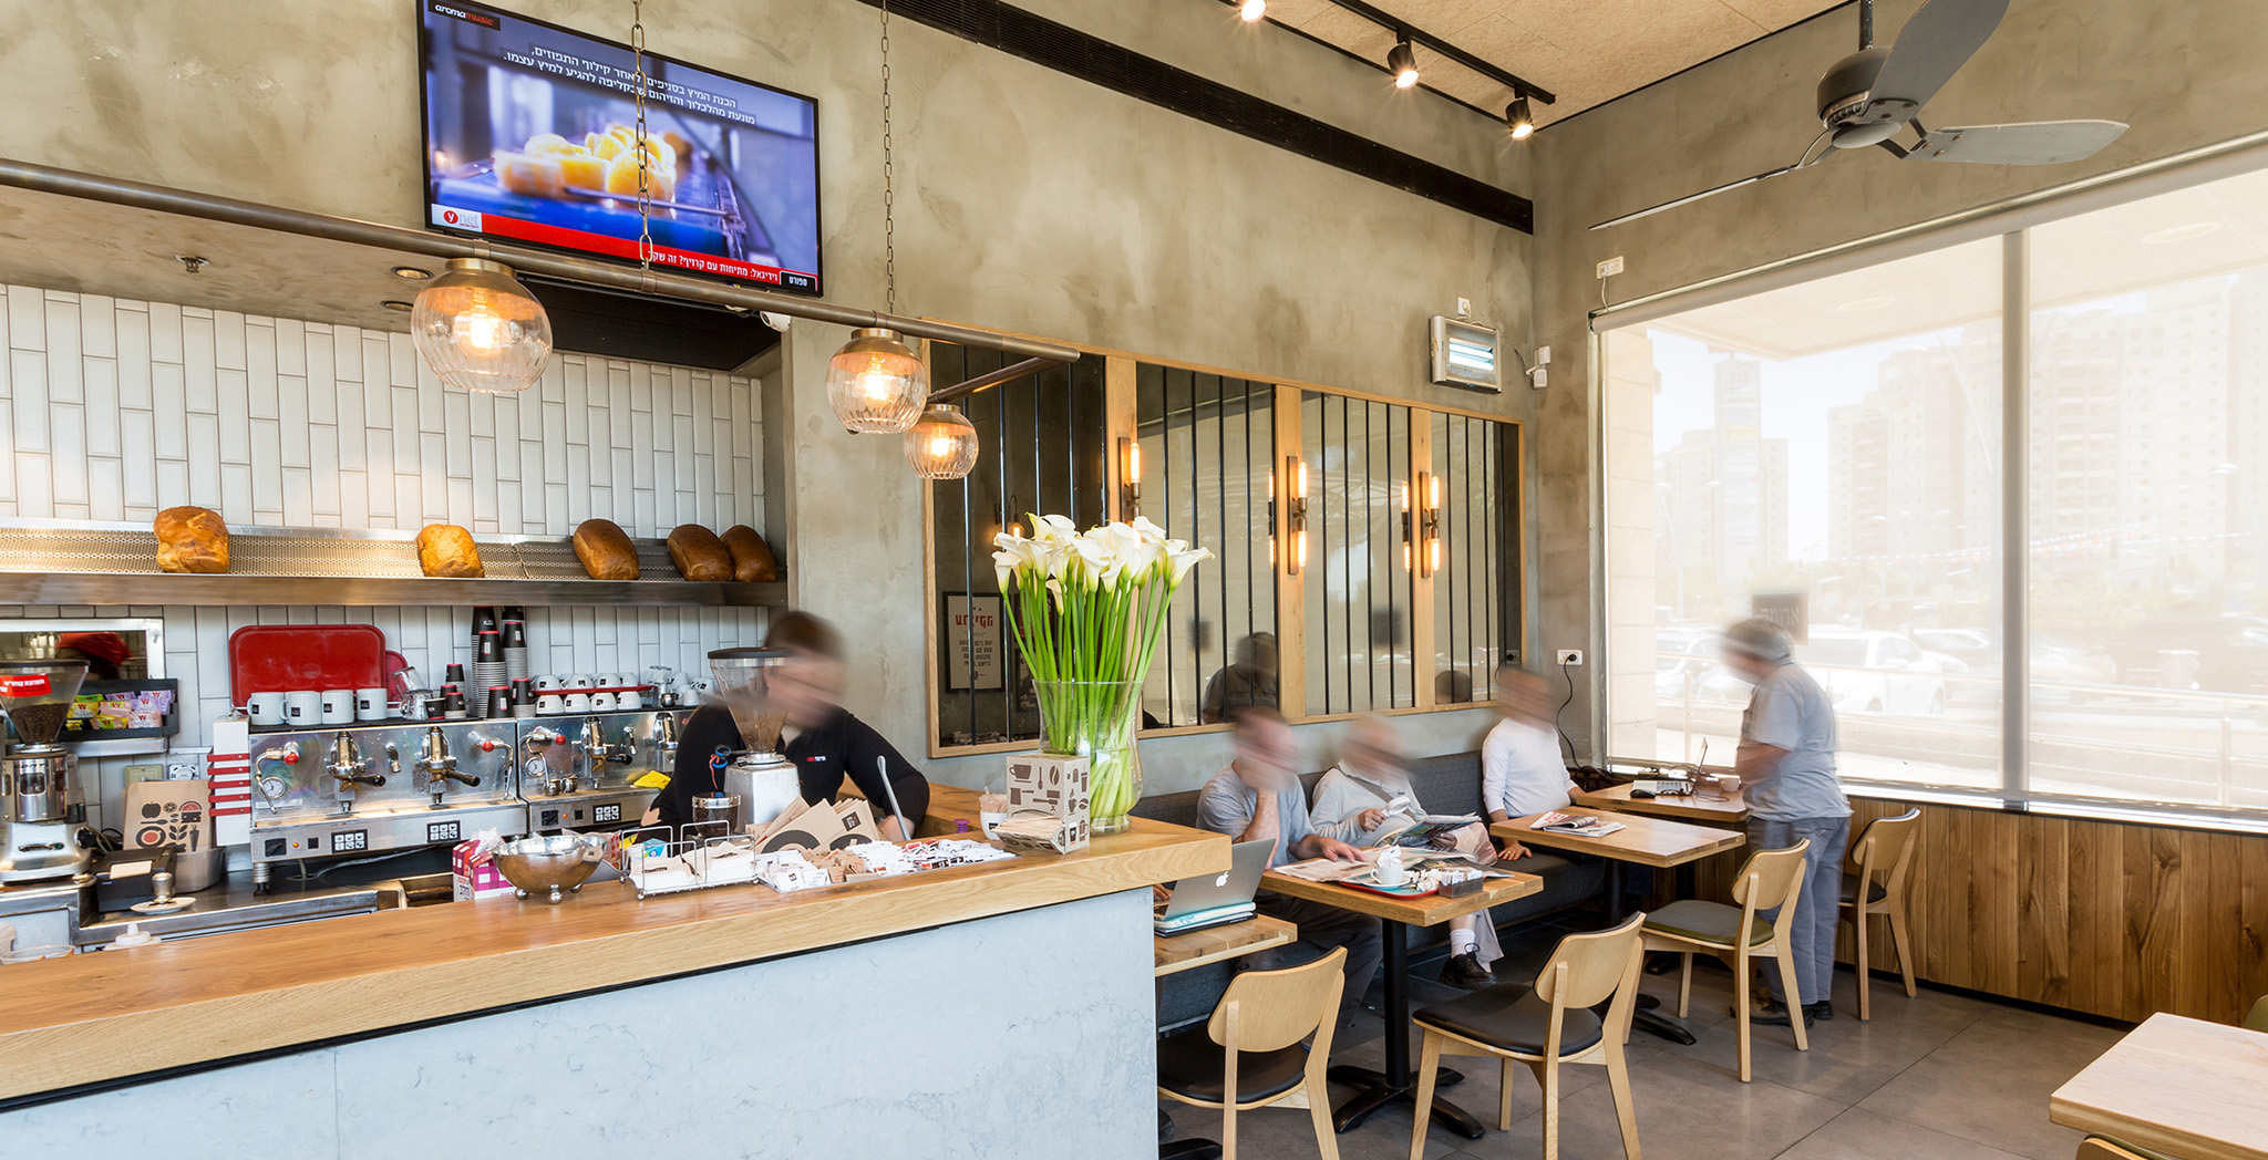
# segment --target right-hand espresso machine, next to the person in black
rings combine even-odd
[[[637,782],[669,775],[687,709],[549,716],[519,730],[528,831],[635,827],[653,804]]]

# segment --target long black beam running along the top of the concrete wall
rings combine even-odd
[[[880,0],[862,2],[880,7]],[[1535,204],[1517,193],[1499,190],[1488,181],[1379,145],[1361,134],[1325,125],[1306,113],[1295,113],[1014,5],[1000,0],[889,0],[889,11],[1159,109],[1173,109],[1232,134],[1266,140],[1325,165],[1461,208],[1474,218],[1522,233],[1535,231]]]

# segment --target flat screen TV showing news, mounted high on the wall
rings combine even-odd
[[[631,45],[420,0],[426,220],[637,261]],[[819,102],[646,54],[653,261],[819,295]]]

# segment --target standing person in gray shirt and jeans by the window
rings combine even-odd
[[[1796,664],[1787,630],[1762,616],[1726,630],[1724,657],[1755,684],[1749,711],[1740,718],[1740,754],[1733,761],[1749,800],[1749,847],[1787,850],[1805,838],[1812,843],[1803,854],[1803,890],[1796,895],[1789,931],[1794,983],[1808,1026],[1812,1020],[1835,1017],[1828,1001],[1835,988],[1835,899],[1842,893],[1844,850],[1851,845],[1851,802],[1835,775],[1835,705]],[[1787,986],[1778,963],[1767,961],[1765,976],[1769,995],[1749,1017],[1785,1026]]]

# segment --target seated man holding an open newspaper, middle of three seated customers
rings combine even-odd
[[[1397,798],[1406,802],[1395,804]],[[1388,811],[1388,804],[1395,809]],[[1354,845],[1379,845],[1383,829],[1388,822],[1397,822],[1397,816],[1408,822],[1422,813],[1427,809],[1417,802],[1408,761],[1402,757],[1402,734],[1383,718],[1354,718],[1347,727],[1347,741],[1340,745],[1338,766],[1315,784],[1315,804],[1309,807],[1315,834]],[[1454,838],[1440,834],[1433,845],[1452,847]],[[1476,854],[1481,865],[1492,865],[1499,859],[1497,847],[1486,838]],[[1529,850],[1513,843],[1501,856],[1524,859]],[[1497,981],[1488,965],[1504,958],[1504,947],[1497,942],[1497,924],[1488,922],[1486,915],[1488,911],[1479,911],[1449,920],[1449,961],[1440,967],[1442,983],[1486,988]]]

